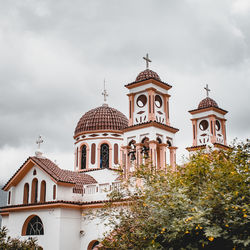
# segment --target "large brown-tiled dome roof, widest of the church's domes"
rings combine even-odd
[[[123,113],[103,104],[82,116],[76,126],[75,135],[92,130],[121,130],[127,126],[128,119]]]

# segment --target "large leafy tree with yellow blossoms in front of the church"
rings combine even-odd
[[[140,166],[99,212],[113,228],[100,248],[249,249],[249,165],[247,140],[197,152],[176,172]]]

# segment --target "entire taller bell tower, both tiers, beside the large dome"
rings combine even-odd
[[[148,54],[143,59],[146,69],[125,85],[129,90],[129,125],[123,130],[127,172],[145,163],[146,158],[157,168],[166,164],[175,167],[176,162],[174,137],[179,130],[170,126],[169,119],[168,91],[172,86],[149,69]]]

